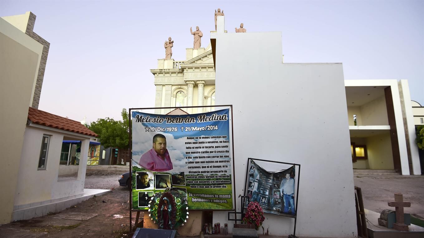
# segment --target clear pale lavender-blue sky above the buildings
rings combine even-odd
[[[281,31],[285,63],[341,62],[345,80],[407,79],[424,105],[424,1],[2,0],[0,16],[32,11],[34,32],[50,42],[39,109],[92,122],[153,107],[149,69],[163,43],[171,36],[184,60],[199,26],[206,47],[217,8],[226,30]]]

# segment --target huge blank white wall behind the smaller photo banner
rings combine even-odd
[[[234,105],[237,202],[248,157],[299,163],[296,235],[356,237],[342,64],[282,64],[281,32],[211,37],[216,37],[216,103]],[[265,218],[271,235],[293,232],[294,219]],[[227,212],[213,213],[213,222],[226,220]]]

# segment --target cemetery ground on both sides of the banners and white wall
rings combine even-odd
[[[88,199],[60,213],[1,225],[0,237],[131,237],[127,235],[129,191],[128,188],[119,186],[120,174],[121,172],[87,174],[85,188],[113,189],[112,192]],[[387,202],[394,200],[394,193],[400,192],[404,201],[411,202],[411,207],[405,208],[405,213],[423,219],[424,176],[358,176],[354,178],[354,183],[362,189],[365,208],[378,213],[390,209]],[[207,237],[218,237],[218,235]],[[273,236],[270,234],[263,237]]]

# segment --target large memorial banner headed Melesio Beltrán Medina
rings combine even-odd
[[[229,109],[131,117],[134,210],[167,188],[186,194],[190,210],[233,209]]]

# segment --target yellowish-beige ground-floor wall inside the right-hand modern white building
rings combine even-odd
[[[368,137],[366,141],[369,169],[394,169],[389,132]]]

